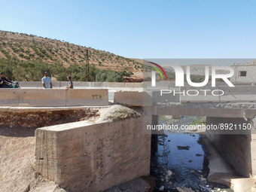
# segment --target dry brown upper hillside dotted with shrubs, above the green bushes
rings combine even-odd
[[[90,65],[99,69],[133,72],[131,78],[142,78],[142,62],[96,50],[92,47],[80,46],[56,38],[42,38],[18,32],[0,30],[0,58],[33,62],[42,60],[48,64],[61,63],[64,67],[72,64],[84,66],[86,54],[89,50]]]

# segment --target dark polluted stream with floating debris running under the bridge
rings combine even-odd
[[[172,119],[160,116],[159,124],[205,123],[205,117],[181,116]],[[197,132],[197,131],[194,131]],[[181,129],[174,132],[160,132],[152,135],[151,175],[157,178],[153,191],[181,192],[231,192],[222,184],[209,183],[209,160],[206,157],[202,136],[193,132],[184,133]]]

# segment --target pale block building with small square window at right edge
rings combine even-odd
[[[234,75],[230,78],[232,83],[256,84],[256,60],[234,64],[231,67],[234,70]]]

